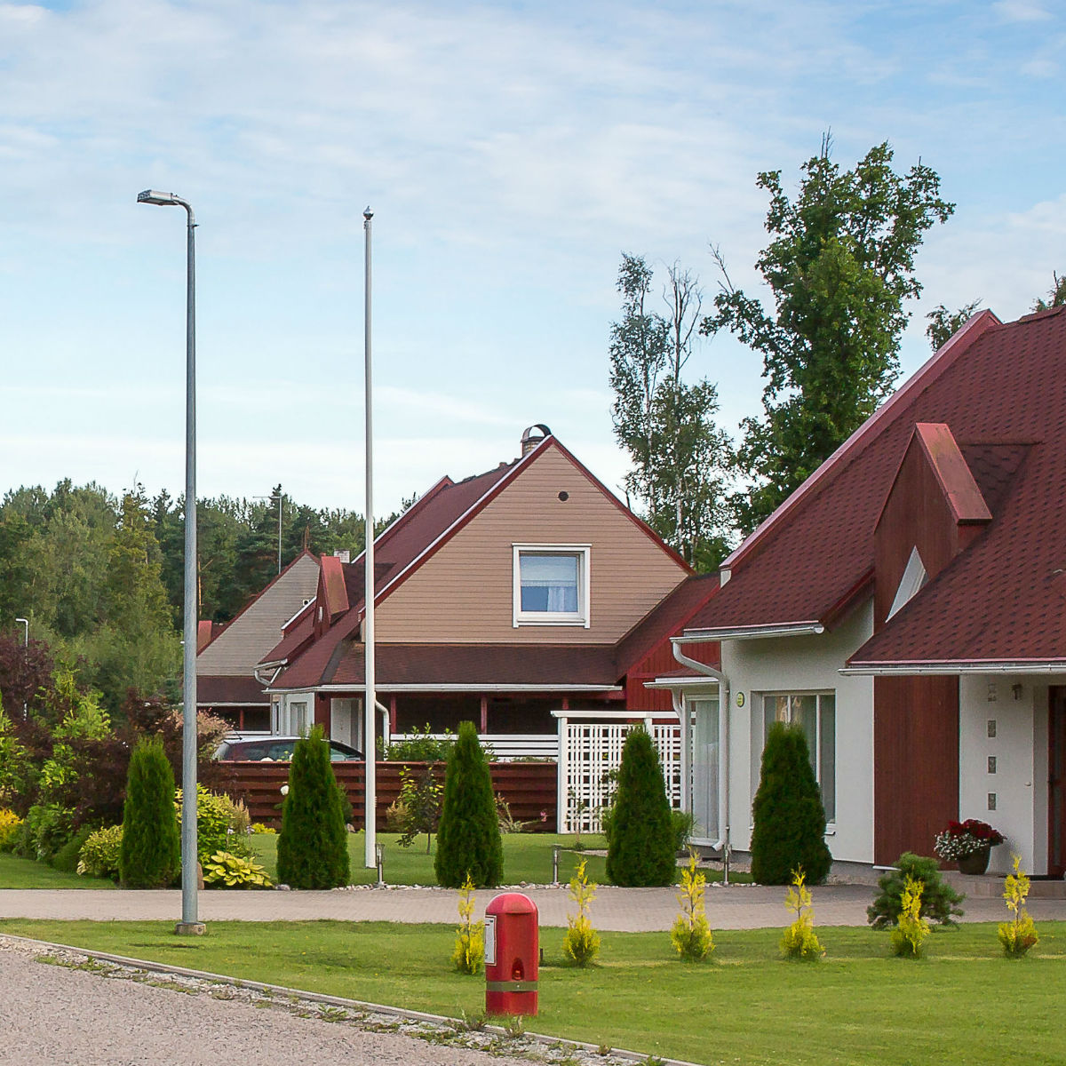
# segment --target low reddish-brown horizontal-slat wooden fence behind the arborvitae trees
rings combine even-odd
[[[332,763],[337,782],[352,802],[352,822],[362,828],[365,811],[364,764],[361,762]],[[400,795],[400,771],[405,763],[378,762],[377,827],[385,826],[385,812]],[[424,766],[421,762],[406,763],[411,771]],[[231,762],[230,780],[226,791],[235,800],[243,800],[253,822],[275,827],[281,824],[281,786],[289,780],[287,762]],[[439,768],[443,781],[443,766]],[[553,833],[555,829],[556,766],[554,762],[494,762],[489,764],[496,794],[506,801],[511,817],[531,823],[528,829]]]

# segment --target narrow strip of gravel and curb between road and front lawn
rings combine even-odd
[[[480,1029],[468,1028],[462,1020],[446,1018],[442,1015],[342,999],[338,996],[287,988],[284,985],[245,981],[6,933],[0,934],[0,950],[28,955],[43,964],[83,970],[113,980],[150,984],[157,988],[192,996],[208,995],[220,1000],[241,1000],[259,1007],[287,1011],[297,1018],[317,1018],[320,1021],[350,1025],[364,1032],[402,1033],[435,1045],[483,1051],[494,1055],[510,1055],[556,1066],[629,1066],[631,1063],[698,1066],[683,1060],[644,1055],[617,1048],[601,1054],[596,1045],[580,1040],[566,1040],[558,1036],[530,1032],[512,1035],[502,1025],[485,1024]]]

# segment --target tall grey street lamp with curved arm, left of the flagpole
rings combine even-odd
[[[146,189],[138,204],[183,207],[189,221],[185,288],[185,586],[184,713],[181,730],[181,921],[176,933],[198,935],[196,900],[196,217],[192,205],[174,193]]]

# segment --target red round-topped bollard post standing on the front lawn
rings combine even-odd
[[[504,892],[485,908],[485,1013],[537,1012],[540,965],[536,904]]]

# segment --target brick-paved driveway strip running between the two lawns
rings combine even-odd
[[[563,888],[517,888],[537,905],[540,924],[563,926],[570,909]],[[814,912],[819,925],[865,925],[866,908],[873,899],[867,885],[827,885],[815,888]],[[492,891],[478,893],[484,912]],[[707,915],[714,928],[763,928],[787,925],[785,889],[711,885]],[[437,888],[357,888],[333,892],[221,890],[199,893],[199,916],[212,921],[306,921],[332,918],[341,921],[454,922],[456,893]],[[964,921],[1001,921],[1002,900],[970,898]],[[597,889],[593,920],[603,931],[656,932],[668,930],[677,916],[675,892],[668,888]],[[1033,899],[1029,910],[1036,921],[1066,920],[1066,900]],[[94,919],[98,921],[177,921],[181,916],[178,891],[94,891],[92,889],[0,890],[0,918]]]

